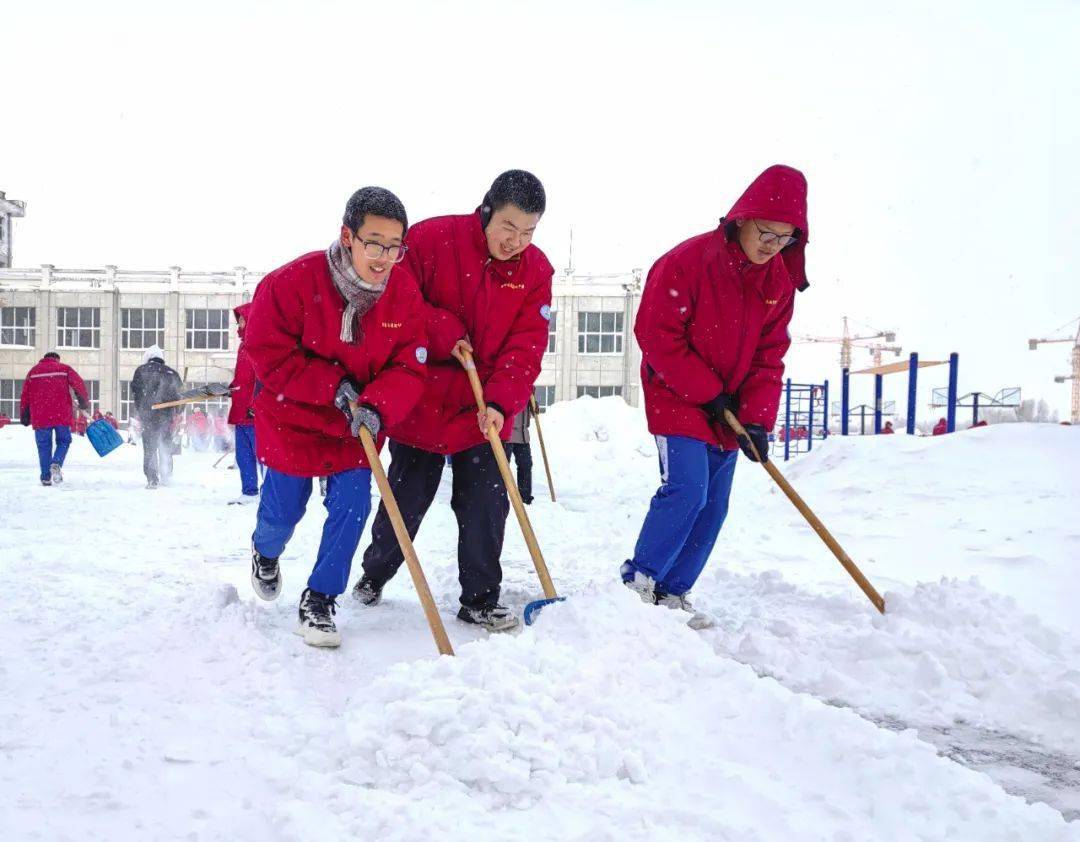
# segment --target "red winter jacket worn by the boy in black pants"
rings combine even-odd
[[[406,262],[427,302],[431,358],[416,409],[390,436],[436,453],[458,453],[483,444],[476,400],[461,364],[450,356],[468,336],[484,384],[484,399],[513,418],[532,394],[548,347],[552,269],[543,252],[528,246],[513,260],[495,260],[480,213],[426,219],[405,237]]]

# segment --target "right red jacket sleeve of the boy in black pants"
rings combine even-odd
[[[551,310],[551,279],[555,270],[544,263],[541,280],[526,293],[495,359],[495,370],[484,383],[484,399],[498,404],[507,418],[516,416],[529,402],[548,348],[548,320],[543,314]]]

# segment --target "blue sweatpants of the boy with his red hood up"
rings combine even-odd
[[[728,515],[738,450],[721,450],[684,436],[657,436],[663,485],[630,562],[665,594],[687,593],[708,560]]]

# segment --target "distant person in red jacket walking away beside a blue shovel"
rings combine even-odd
[[[38,463],[41,485],[59,485],[64,481],[64,459],[71,446],[71,427],[75,423],[71,392],[79,403],[79,417],[90,409],[86,384],[71,366],[60,362],[55,351],[45,354],[41,362],[26,375],[19,398],[19,416],[24,426],[33,426],[38,444]],[[85,429],[85,427],[84,427]],[[53,437],[56,445],[53,448]]]

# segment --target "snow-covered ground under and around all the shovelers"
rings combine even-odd
[[[559,500],[535,447],[529,514],[570,598],[519,635],[453,620],[444,481],[417,548],[453,660],[404,570],[341,600],[340,650],[292,634],[318,500],[266,605],[217,454],[147,491],[136,448],[77,439],[42,488],[0,430],[0,839],[1080,840],[1080,430],[784,465],[885,616],[741,462],[696,633],[616,582],[657,485],[643,416],[543,422]],[[510,603],[540,594],[513,516],[504,567]]]

